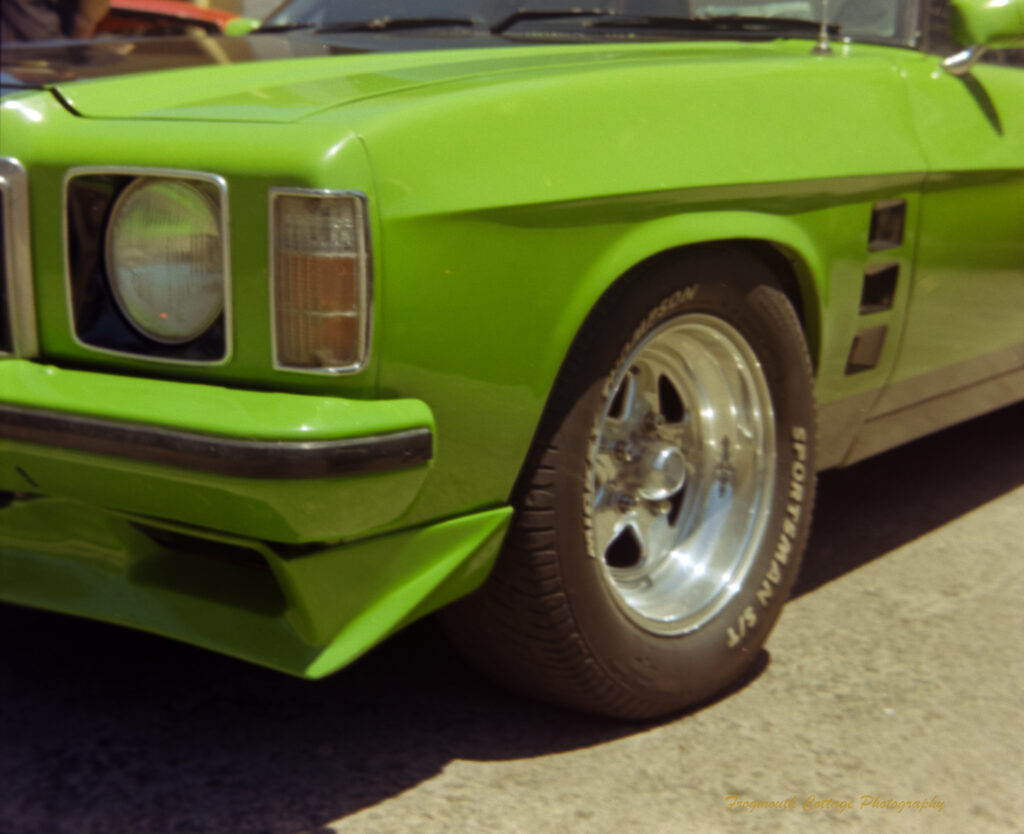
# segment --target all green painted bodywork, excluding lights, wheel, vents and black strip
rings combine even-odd
[[[50,93],[6,99],[0,154],[29,174],[47,365],[0,361],[0,400],[238,436],[425,425],[436,458],[255,484],[5,443],[0,490],[26,492],[22,469],[51,497],[0,511],[0,596],[301,674],[337,668],[479,581],[588,314],[624,276],[642,281],[645,261],[682,247],[754,242],[777,253],[819,403],[867,403],[847,446],[871,407],[885,407],[890,381],[1024,343],[1024,72],[979,66],[956,79],[909,49],[837,44],[818,56],[812,45],[348,54],[62,85],[80,116]],[[223,177],[234,326],[225,363],[118,357],[74,338],[56,233],[62,183],[70,169],[111,165]],[[367,195],[374,337],[361,373],[272,368],[276,186]],[[889,201],[905,201],[903,239],[872,250],[872,209]],[[862,312],[865,273],[886,266],[899,273],[891,307]],[[873,327],[887,328],[876,366],[848,373],[855,337]],[[139,538],[132,522],[143,516],[257,554],[251,596],[224,590],[238,582],[230,572],[209,579],[209,592],[207,580],[172,589],[175,560],[201,555]],[[286,558],[267,542],[321,544]],[[133,574],[136,558],[148,567]],[[116,590],[106,595],[104,582]],[[166,608],[147,613],[150,595]]]

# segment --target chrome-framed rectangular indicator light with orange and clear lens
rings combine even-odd
[[[370,341],[366,198],[351,192],[270,195],[274,365],[359,370]]]

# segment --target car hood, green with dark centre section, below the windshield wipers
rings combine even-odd
[[[798,48],[806,51],[803,44]],[[55,87],[75,113],[87,118],[288,123],[355,101],[454,82],[585,73],[612,62],[652,64],[651,72],[657,72],[656,65],[667,59],[699,65],[712,57],[717,64],[729,57],[792,58],[793,49],[792,42],[690,42],[654,50],[648,44],[643,51],[629,46],[601,52],[510,46],[396,52],[270,36],[174,39],[92,47],[98,57],[81,61],[79,71],[55,67],[47,78],[37,64],[35,80]],[[32,69],[29,65],[18,77],[31,78]],[[5,70],[11,72],[9,66]],[[61,80],[69,75],[73,81]]]

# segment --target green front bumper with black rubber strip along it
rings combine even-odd
[[[394,529],[423,487],[433,415],[354,401],[0,361],[0,491],[269,542]]]

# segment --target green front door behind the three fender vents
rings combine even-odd
[[[910,106],[930,173],[893,381],[1024,342],[1024,73],[915,70]]]

